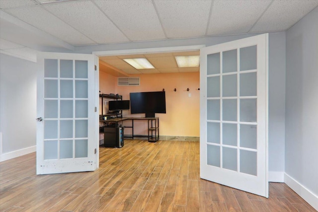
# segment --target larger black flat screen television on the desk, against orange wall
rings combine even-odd
[[[147,118],[155,117],[155,113],[166,113],[165,92],[130,93],[131,114],[145,113]]]

